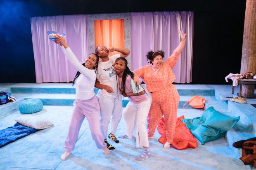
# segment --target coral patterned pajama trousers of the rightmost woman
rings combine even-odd
[[[176,126],[177,110],[180,96],[176,87],[172,84],[164,90],[152,92],[152,104],[147,117],[148,136],[154,136],[156,126],[164,115],[166,120],[166,139],[173,142]]]

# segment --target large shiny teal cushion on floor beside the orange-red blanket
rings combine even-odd
[[[201,117],[183,119],[191,133],[204,145],[206,142],[223,137],[229,129],[235,126],[240,117],[229,117],[219,113],[213,107],[205,110]]]

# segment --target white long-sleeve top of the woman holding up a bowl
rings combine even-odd
[[[71,49],[62,47],[66,58],[71,62],[71,64],[81,73],[76,79],[76,98],[81,100],[91,99],[94,93],[94,85],[96,80],[95,70],[88,69],[84,67],[76,58],[76,55],[71,51]]]

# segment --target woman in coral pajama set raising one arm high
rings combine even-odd
[[[134,82],[140,83],[139,77],[143,78],[147,89],[152,92],[152,105],[147,117],[148,138],[152,139],[156,126],[164,115],[166,120],[166,143],[164,148],[169,148],[170,143],[173,142],[175,132],[177,110],[180,96],[172,84],[175,80],[173,74],[173,67],[178,61],[180,52],[184,48],[186,34],[179,32],[181,42],[179,46],[173,51],[173,54],[163,62],[164,51],[149,51],[147,59],[152,66],[143,66],[134,71]]]

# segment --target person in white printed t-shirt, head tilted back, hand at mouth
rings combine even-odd
[[[109,53],[117,51],[120,54],[112,55],[109,57]],[[98,98],[100,103],[100,124],[102,129],[102,134],[104,137],[104,142],[107,143],[109,149],[115,149],[107,141],[107,130],[108,125],[110,125],[110,133],[108,137],[114,142],[118,143],[119,140],[116,139],[115,133],[117,126],[122,117],[122,97],[119,93],[119,85],[116,77],[116,72],[114,71],[114,63],[118,57],[127,57],[130,54],[130,50],[126,48],[115,48],[100,45],[95,49],[95,53],[101,58],[98,64],[98,73],[95,87],[99,88]]]

